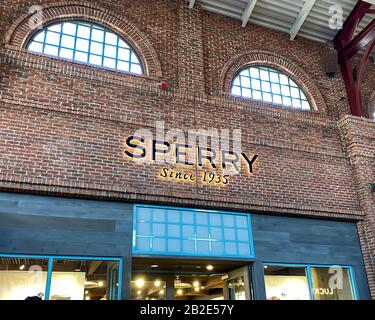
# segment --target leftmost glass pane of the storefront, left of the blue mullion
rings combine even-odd
[[[47,259],[0,258],[0,300],[44,300],[47,271]]]

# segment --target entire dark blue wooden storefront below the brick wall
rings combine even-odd
[[[349,222],[0,194],[0,299],[369,299]]]

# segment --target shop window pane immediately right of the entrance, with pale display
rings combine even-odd
[[[267,300],[310,300],[304,267],[265,266]]]

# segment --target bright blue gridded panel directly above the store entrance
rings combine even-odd
[[[133,254],[254,257],[249,214],[134,206]]]

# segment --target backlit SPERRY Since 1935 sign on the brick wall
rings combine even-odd
[[[156,135],[149,129],[137,130],[125,140],[124,156],[138,164],[162,165],[163,180],[210,185],[227,185],[230,177],[245,169],[251,175],[259,156],[242,151],[241,132],[233,130],[164,130],[157,122]],[[199,173],[194,168],[200,168]],[[198,176],[199,175],[199,176]]]

